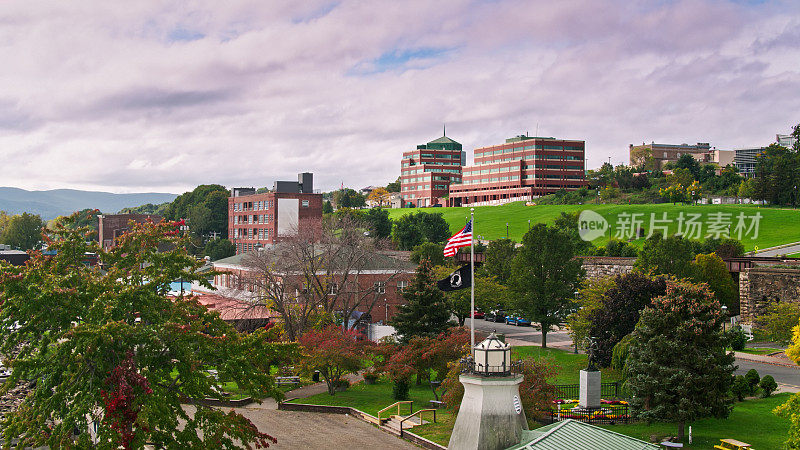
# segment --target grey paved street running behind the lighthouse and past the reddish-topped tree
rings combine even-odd
[[[467,325],[469,325],[469,320],[467,320]],[[516,327],[478,319],[475,321],[475,329],[487,333],[491,331],[504,333],[512,344],[514,344],[514,340],[522,341],[527,345],[541,345],[542,343],[542,334],[532,327]],[[548,347],[571,349],[572,339],[570,339],[566,331],[550,332],[547,333],[547,345]],[[744,375],[748,370],[756,369],[762,377],[764,375],[772,375],[778,383],[800,391],[800,367],[774,366],[738,358],[736,359],[736,365],[739,366],[736,371],[737,375]]]

